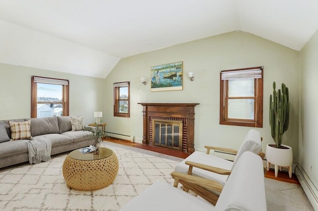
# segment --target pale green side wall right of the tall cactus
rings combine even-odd
[[[300,52],[300,164],[318,189],[318,31]]]

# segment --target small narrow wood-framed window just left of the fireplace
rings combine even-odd
[[[130,82],[114,83],[114,116],[130,117]]]

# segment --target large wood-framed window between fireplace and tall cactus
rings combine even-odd
[[[263,127],[263,67],[220,73],[220,124]]]

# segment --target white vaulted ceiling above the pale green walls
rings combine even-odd
[[[121,58],[236,30],[299,51],[318,0],[0,0],[0,62],[105,78]]]

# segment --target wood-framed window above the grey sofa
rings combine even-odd
[[[69,116],[69,80],[31,76],[31,118]]]

